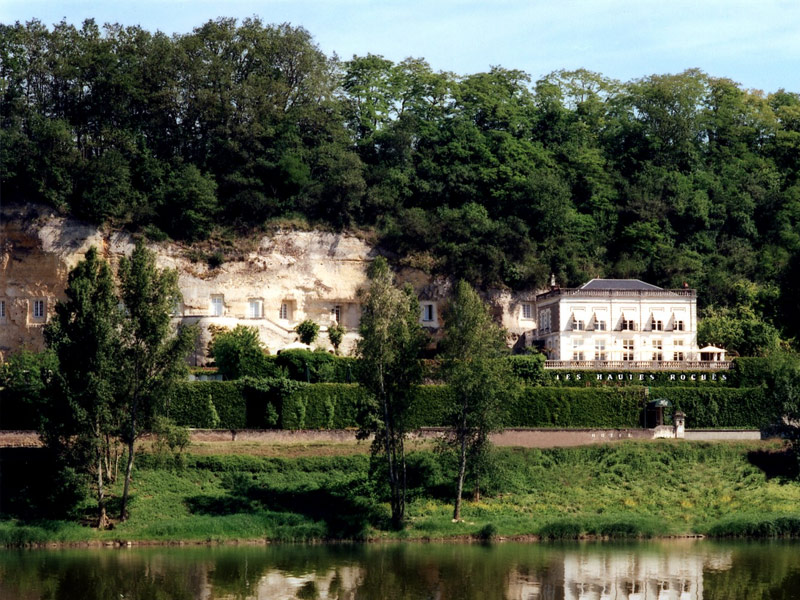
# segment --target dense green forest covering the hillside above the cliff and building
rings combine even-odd
[[[6,203],[189,242],[369,228],[483,287],[685,281],[708,341],[800,337],[797,93],[342,60],[258,19],[0,25],[0,82]]]

